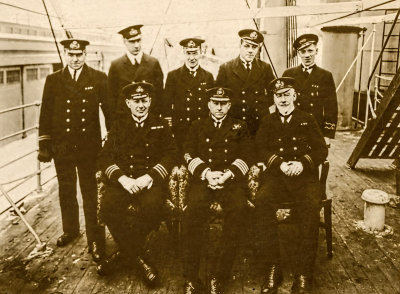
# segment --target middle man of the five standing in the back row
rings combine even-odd
[[[172,130],[178,146],[179,158],[183,160],[182,147],[189,125],[208,116],[206,89],[214,84],[209,71],[199,64],[201,44],[204,40],[187,38],[180,41],[185,64],[168,73],[165,83],[164,116],[172,119]]]

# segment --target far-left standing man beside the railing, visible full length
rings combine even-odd
[[[109,122],[108,84],[105,73],[85,64],[88,41],[61,41],[67,66],[49,75],[44,86],[39,119],[39,156],[54,158],[63,234],[57,246],[79,236],[76,199],[78,171],[85,212],[89,251],[95,260],[104,253],[104,227],[97,225],[96,156],[101,149],[99,105]]]

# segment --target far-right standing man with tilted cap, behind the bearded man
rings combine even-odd
[[[335,138],[338,104],[332,73],[315,64],[317,43],[318,36],[314,34],[298,37],[293,47],[301,65],[287,69],[283,76],[296,80],[297,107],[314,115],[329,146],[330,139]]]

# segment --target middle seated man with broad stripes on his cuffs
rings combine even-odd
[[[207,91],[210,116],[193,122],[183,146],[191,182],[183,220],[185,294],[202,293],[198,278],[200,254],[209,228],[210,205],[223,208],[223,232],[216,265],[211,266],[211,293],[222,293],[230,276],[237,240],[243,234],[247,209],[246,177],[249,134],[246,123],[228,115],[232,91]]]

